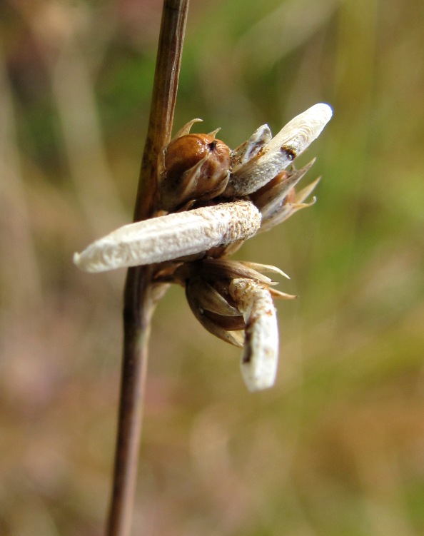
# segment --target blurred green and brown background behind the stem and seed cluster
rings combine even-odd
[[[103,530],[125,273],[71,256],[131,220],[160,13],[0,6],[1,535]],[[299,295],[275,388],[247,393],[181,288],[158,306],[134,535],[424,533],[423,28],[416,0],[192,0],[176,128],[334,117],[301,157],[318,203],[237,254]]]

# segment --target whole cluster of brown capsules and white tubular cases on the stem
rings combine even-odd
[[[249,390],[273,385],[278,363],[278,292],[264,273],[273,266],[229,261],[246,238],[268,231],[305,203],[318,181],[296,193],[313,161],[286,168],[330,120],[327,104],[296,116],[273,138],[268,125],[230,151],[209,134],[190,134],[193,119],[163,149],[158,210],[176,211],[131,223],[94,242],[74,263],[89,272],[157,264],[153,280],[186,288],[194,315],[211,333],[243,347],[241,370]]]

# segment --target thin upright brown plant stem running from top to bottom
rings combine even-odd
[[[165,0],[156,59],[148,133],[141,162],[134,221],[155,211],[158,155],[171,139],[189,0]],[[155,305],[151,266],[129,268],[123,295],[123,361],[113,490],[107,536],[131,532],[146,392],[148,336]]]

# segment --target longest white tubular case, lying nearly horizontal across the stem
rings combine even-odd
[[[251,201],[220,203],[129,223],[74,254],[86,272],[161,263],[249,238],[261,226]]]

